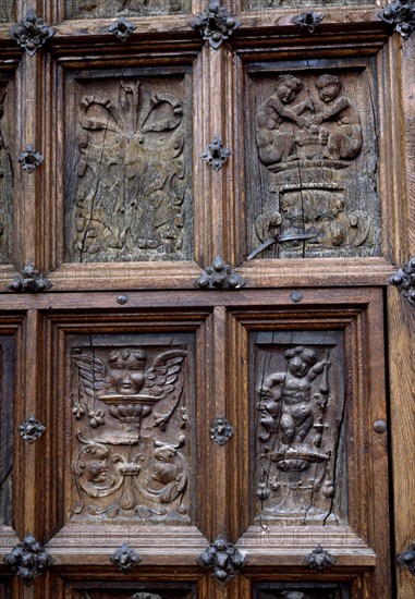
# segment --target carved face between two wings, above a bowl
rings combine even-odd
[[[139,351],[123,350],[110,354],[107,374],[112,387],[121,395],[139,393],[145,381],[146,356]]]

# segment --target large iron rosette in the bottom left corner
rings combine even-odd
[[[33,535],[26,535],[23,541],[3,558],[3,563],[10,566],[25,585],[32,585],[35,578],[54,563],[54,560]]]

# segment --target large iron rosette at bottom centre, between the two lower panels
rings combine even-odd
[[[222,536],[219,536],[215,542],[198,557],[197,563],[209,570],[211,576],[222,586],[234,578],[240,570],[244,567],[248,561],[236,547],[228,542]]]

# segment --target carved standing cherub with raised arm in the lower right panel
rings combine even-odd
[[[281,430],[282,443],[289,445],[293,441],[304,441],[313,427],[312,382],[329,363],[317,362],[316,352],[301,345],[288,350],[285,359],[286,371],[269,375],[259,392],[266,406],[271,403],[271,409],[266,409],[274,428]]]

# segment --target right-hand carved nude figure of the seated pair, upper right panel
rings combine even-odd
[[[327,105],[318,113],[310,117],[313,125],[334,121],[337,131],[320,130],[320,140],[327,146],[327,157],[335,160],[355,158],[362,149],[361,118],[346,96],[339,96],[341,81],[335,75],[321,75],[316,82],[320,100]]]

